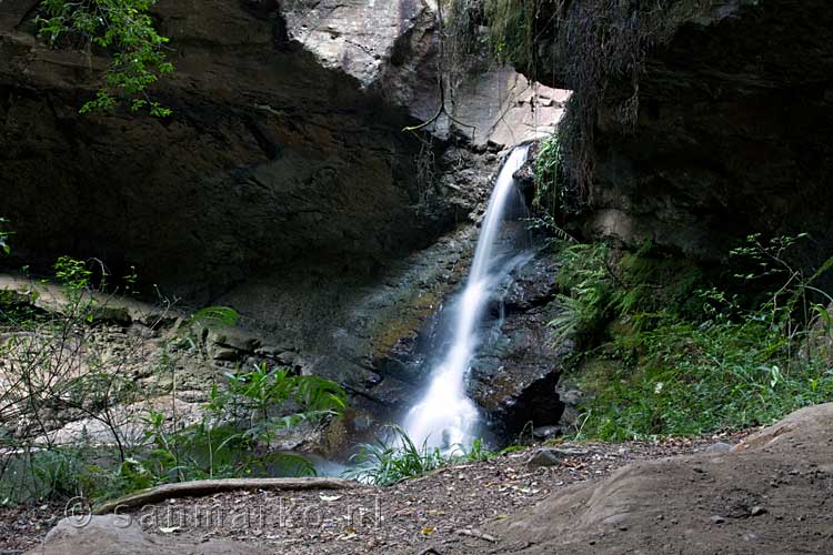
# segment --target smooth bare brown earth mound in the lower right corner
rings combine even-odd
[[[625,466],[490,525],[493,553],[825,553],[833,405],[801,410],[731,453]]]

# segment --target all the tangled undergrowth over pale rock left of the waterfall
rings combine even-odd
[[[207,366],[208,400],[183,414],[170,354],[208,361],[208,331],[234,325],[237,312],[211,306],[171,324],[170,306],[160,309],[143,321],[147,333],[174,327],[159,334],[161,356],[152,357],[142,333],[108,322],[116,291],[103,264],[62,256],[53,270],[60,293],[36,281],[24,293],[0,292],[1,503],[104,500],[188,480],[314,474],[307,460],[273,443],[285,430],[340,415],[347,403],[340,386],[267,362],[219,380]],[[134,280],[126,276],[124,289]],[[60,297],[60,306],[40,309],[41,295],[49,303]],[[118,343],[107,339],[113,333]],[[150,375],[139,382],[137,372]],[[84,422],[71,441],[61,432],[68,422]]]

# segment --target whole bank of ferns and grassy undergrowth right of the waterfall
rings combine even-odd
[[[789,250],[804,239],[750,236],[730,276],[650,245],[566,246],[550,325],[553,341],[575,339],[583,353],[572,379],[591,397],[578,436],[700,435],[833,400],[833,299],[814,285],[833,262],[811,275],[793,268]],[[612,364],[588,362],[600,359]]]

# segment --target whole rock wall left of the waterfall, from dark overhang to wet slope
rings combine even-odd
[[[489,70],[449,105],[473,128],[404,133],[439,107],[430,2],[161,0],[175,71],[153,94],[173,117],[82,118],[108,60],[48,49],[37,4],[0,9],[16,262],[134,265],[242,314],[257,345],[217,343],[215,361],[265,353],[383,404],[378,363],[461,279],[503,145],[551,131],[563,103]]]

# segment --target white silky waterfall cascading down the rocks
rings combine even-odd
[[[416,445],[449,448],[465,444],[478,424],[478,410],[465,394],[465,377],[478,346],[483,310],[504,270],[495,246],[512,200],[520,196],[513,174],[526,160],[528,150],[526,145],[515,148],[498,175],[469,279],[453,314],[451,345],[434,369],[422,401],[405,416],[403,427]]]

